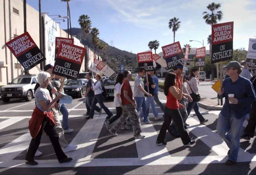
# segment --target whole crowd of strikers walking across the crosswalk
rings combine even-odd
[[[218,91],[218,98],[225,98],[225,103],[220,111],[217,123],[217,132],[226,142],[228,148],[227,165],[232,165],[237,161],[240,148],[240,136],[242,132],[243,121],[248,118],[248,125],[245,128],[243,138],[250,140],[254,136],[256,126],[255,116],[255,78],[247,70],[247,63],[241,64],[237,61],[230,61],[224,69],[227,76],[223,81],[222,88]],[[68,126],[68,111],[64,103],[59,103],[63,95],[58,95],[61,90],[61,77],[52,74],[52,65],[46,65],[44,71],[38,74],[38,84],[35,87],[36,106],[29,121],[29,130],[32,136],[28,151],[26,153],[25,163],[28,165],[37,165],[34,156],[42,154],[38,150],[43,131],[49,136],[53,145],[55,154],[59,163],[65,163],[72,160],[65,155],[66,152],[73,151],[77,146],[69,145],[65,140],[64,133],[70,133],[73,129]],[[166,131],[174,137],[180,137],[184,146],[195,144],[187,132],[189,123],[186,122],[190,112],[194,109],[200,124],[204,124],[208,119],[204,118],[199,110],[199,105],[194,94],[199,92],[199,80],[197,79],[198,70],[193,68],[190,71],[187,88],[184,87],[183,65],[176,65],[174,72],[169,72],[165,76],[164,95],[166,95],[166,105],[162,104],[158,98],[158,78],[155,71],[148,72],[148,78],[142,80],[145,70],[138,69],[138,75],[134,81],[134,90],[132,91],[130,80],[132,74],[130,71],[124,71],[117,75],[114,89],[114,104],[116,114],[112,112],[103,103],[102,94],[102,75],[96,74],[92,80],[92,74],[88,73],[86,79],[86,119],[93,119],[94,112],[102,114],[102,109],[107,114],[105,126],[113,136],[118,136],[119,129],[133,128],[134,138],[144,138],[141,130],[141,123],[152,125],[148,118],[149,108],[151,108],[154,120],[163,120],[162,127],[156,139],[156,144],[165,146]],[[54,78],[51,81],[51,78]],[[250,80],[249,80],[250,79]],[[188,104],[185,102],[187,98]],[[100,107],[96,104],[99,103]],[[164,112],[159,116],[156,106],[160,106]],[[63,115],[63,127],[59,119],[59,111]],[[113,117],[112,117],[113,116]],[[249,117],[248,117],[249,116]]]

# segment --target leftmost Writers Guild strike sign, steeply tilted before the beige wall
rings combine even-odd
[[[46,60],[28,32],[10,40],[5,45],[11,50],[26,71]]]

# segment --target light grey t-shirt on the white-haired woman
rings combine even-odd
[[[43,112],[50,112],[51,109],[49,109],[48,111],[44,110],[43,106],[40,103],[40,101],[42,100],[46,100],[47,104],[49,104],[52,101],[48,89],[44,89],[40,86],[38,87],[38,89],[36,89],[36,93],[35,93],[36,106],[38,107],[38,109],[40,109]]]

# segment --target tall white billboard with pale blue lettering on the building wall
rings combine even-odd
[[[45,28],[45,57],[46,65],[52,64],[54,65],[55,61],[55,41],[56,37],[59,37],[59,24],[52,20],[49,16],[43,15],[44,17],[44,28]]]

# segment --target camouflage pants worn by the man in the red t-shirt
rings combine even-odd
[[[130,118],[133,125],[133,135],[139,136],[141,134],[141,121],[139,119],[138,112],[132,104],[123,105],[123,115],[115,122],[110,128],[111,132],[117,131],[121,125],[123,125],[127,118]]]

